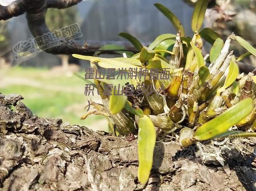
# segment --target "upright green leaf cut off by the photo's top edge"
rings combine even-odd
[[[191,27],[192,31],[199,31],[204,22],[204,15],[208,6],[209,0],[198,0],[192,15]]]

